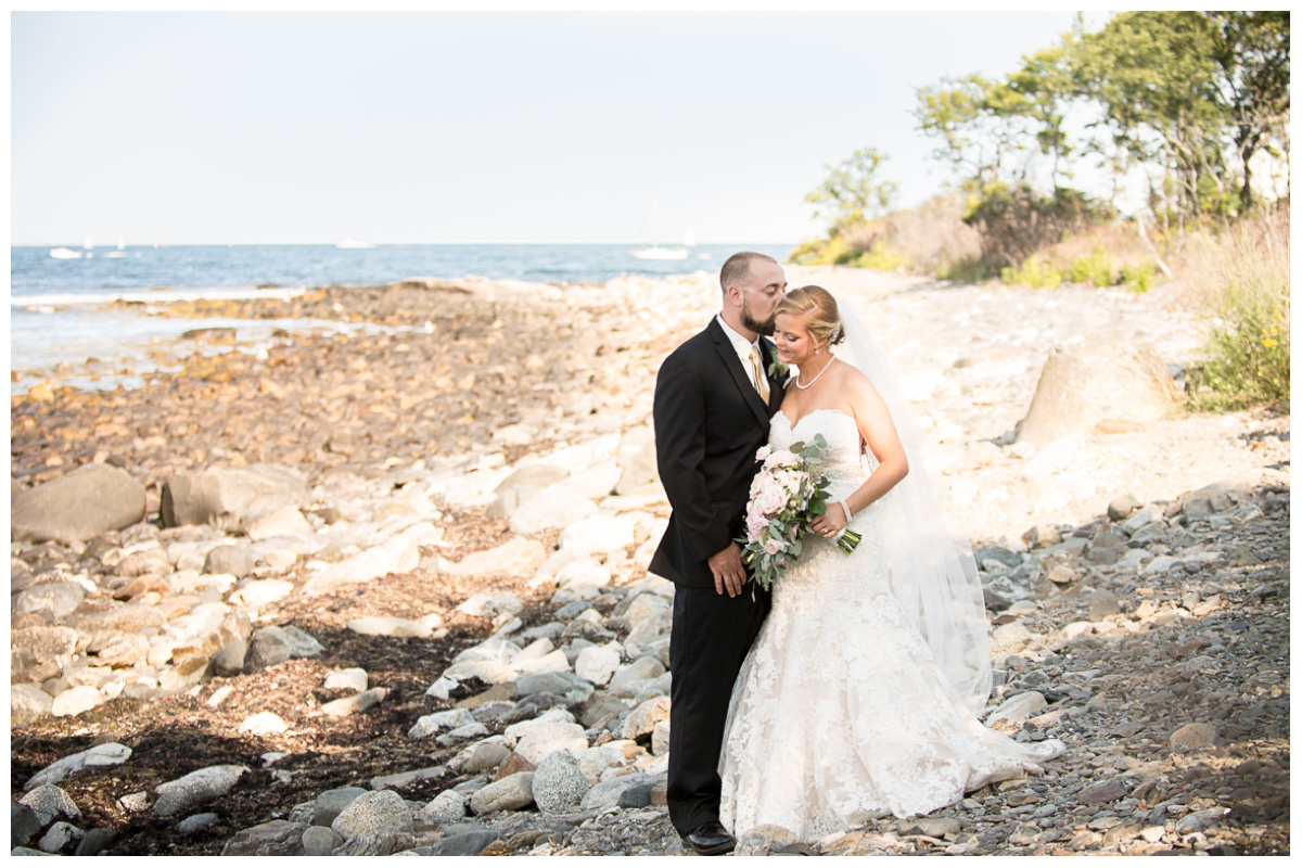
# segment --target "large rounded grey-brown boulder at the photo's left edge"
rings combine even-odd
[[[86,465],[13,497],[14,540],[76,543],[145,518],[145,485],[112,465]]]

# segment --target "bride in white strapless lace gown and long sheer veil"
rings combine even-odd
[[[858,367],[831,353],[846,337]],[[773,340],[799,375],[769,442],[823,435],[831,496],[733,687],[723,824],[815,841],[1040,773],[1061,742],[1019,744],[976,718],[991,685],[980,582],[945,535],[880,355],[820,286],[786,294]],[[835,541],[846,527],[863,536],[850,556]]]

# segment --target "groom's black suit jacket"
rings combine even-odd
[[[764,371],[773,347],[760,341]],[[673,513],[651,571],[687,587],[712,588],[708,558],[742,536],[755,452],[783,403],[783,381],[768,376],[760,400],[717,318],[660,366],[655,440],[660,481]]]

